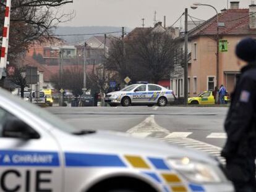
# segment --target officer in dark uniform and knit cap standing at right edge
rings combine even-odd
[[[256,41],[246,38],[236,47],[241,75],[231,94],[224,124],[228,139],[221,152],[226,175],[237,192],[256,191]]]

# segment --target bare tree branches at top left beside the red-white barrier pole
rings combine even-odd
[[[9,38],[9,61],[16,59],[28,45],[51,39],[54,28],[61,22],[70,20],[72,13],[65,14],[58,7],[70,0],[12,0],[11,27]],[[0,19],[4,19],[4,1],[0,2]],[[3,23],[0,23],[2,28]],[[2,31],[0,31],[2,35]]]

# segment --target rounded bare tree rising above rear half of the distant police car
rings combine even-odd
[[[176,41],[166,33],[148,31],[130,43],[132,60],[147,69],[153,83],[169,78],[174,65]]]

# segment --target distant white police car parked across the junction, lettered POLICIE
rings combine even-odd
[[[110,106],[121,104],[124,107],[131,104],[147,104],[148,106],[158,104],[164,107],[171,101],[174,101],[173,91],[155,84],[129,85],[121,91],[108,93],[105,97],[105,102]]]

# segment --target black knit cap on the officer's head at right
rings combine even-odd
[[[253,62],[256,60],[256,41],[252,38],[245,38],[236,46],[236,56],[240,59]]]

